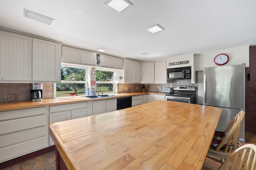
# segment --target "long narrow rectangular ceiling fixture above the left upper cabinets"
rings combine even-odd
[[[32,20],[36,20],[42,23],[46,23],[48,25],[52,25],[52,22],[55,20],[27,9],[24,9],[24,17],[30,18]]]

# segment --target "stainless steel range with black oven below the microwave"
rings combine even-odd
[[[196,87],[173,86],[172,93],[166,94],[165,100],[196,104]]]

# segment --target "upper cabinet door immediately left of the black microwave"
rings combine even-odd
[[[155,83],[166,83],[166,61],[155,63]]]

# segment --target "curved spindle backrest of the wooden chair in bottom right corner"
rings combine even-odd
[[[256,145],[246,144],[236,149],[218,170],[255,170],[256,169]]]

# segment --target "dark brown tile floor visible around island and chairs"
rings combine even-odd
[[[256,145],[256,134],[245,133],[246,143]],[[239,146],[246,143],[240,142]],[[206,158],[202,170],[218,170],[220,163]],[[40,156],[36,156],[24,162],[4,168],[3,170],[55,170],[55,151],[50,151]]]

